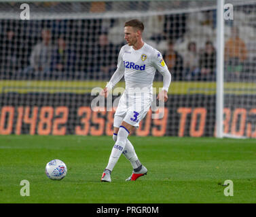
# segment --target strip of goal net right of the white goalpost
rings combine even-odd
[[[223,135],[256,137],[255,1],[227,1],[234,20],[225,21]]]

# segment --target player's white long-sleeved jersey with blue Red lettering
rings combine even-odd
[[[152,90],[156,70],[162,75],[170,75],[162,54],[158,50],[147,43],[144,43],[139,50],[134,50],[132,46],[124,45],[118,56],[117,71],[115,71],[107,87],[112,88],[124,76],[126,90],[134,87],[147,87]],[[164,84],[164,89],[168,90],[169,85],[170,81],[167,81],[166,85]]]

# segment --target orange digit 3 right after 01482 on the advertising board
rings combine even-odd
[[[81,119],[81,123],[84,124],[84,129],[82,129],[81,126],[76,126],[75,127],[75,134],[77,135],[88,135],[89,129],[90,129],[90,118],[91,118],[91,113],[92,110],[90,107],[79,107],[77,111],[78,116],[83,116],[84,117]]]

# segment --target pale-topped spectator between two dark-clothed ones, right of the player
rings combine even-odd
[[[184,55],[184,71],[186,80],[194,80],[198,77],[199,69],[199,55],[195,42],[189,42],[187,45],[187,52]]]

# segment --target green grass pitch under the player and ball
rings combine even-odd
[[[132,166],[121,156],[112,182],[100,182],[111,136],[0,136],[0,203],[256,203],[256,141],[130,136],[148,174],[125,182]],[[61,159],[67,176],[45,175]],[[29,180],[30,196],[20,196]],[[223,193],[225,180],[234,196]]]

